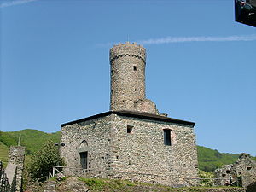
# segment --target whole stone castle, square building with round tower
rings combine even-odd
[[[110,49],[110,111],[61,125],[66,175],[112,177],[171,186],[197,177],[195,123],[160,114],[146,98],[146,50]]]

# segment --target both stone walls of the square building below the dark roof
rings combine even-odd
[[[132,126],[131,133],[127,133],[127,125]],[[163,129],[172,129],[172,146],[164,145]],[[65,143],[61,154],[67,166],[81,167],[79,145],[83,140],[89,148],[89,172],[76,174],[166,185],[195,184],[195,180],[184,180],[197,177],[195,134],[190,125],[116,114],[66,125],[61,130],[61,143]]]

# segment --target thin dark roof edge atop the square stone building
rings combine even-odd
[[[183,124],[183,125],[192,125],[193,127],[195,126],[194,122],[189,122],[189,121],[180,120],[180,119],[173,119],[173,118],[160,116],[160,115],[156,115],[156,114],[151,114],[151,113],[140,113],[140,112],[131,112],[131,111],[108,111],[108,112],[105,112],[105,113],[99,113],[99,114],[96,114],[96,115],[92,115],[92,116],[87,117],[87,118],[73,120],[73,121],[67,122],[65,124],[61,124],[61,127],[66,126],[66,125],[72,125],[72,124],[75,124],[75,123],[80,123],[80,122],[83,122],[85,120],[104,117],[104,116],[107,116],[109,114],[117,114],[117,115],[120,115],[120,116],[135,117],[135,118],[141,118],[141,119],[154,119],[154,120],[157,120],[157,121],[171,122],[171,123]]]

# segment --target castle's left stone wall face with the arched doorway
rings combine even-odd
[[[88,151],[88,169],[92,174],[105,172],[109,168],[111,116],[92,119],[61,128],[61,156],[66,161],[66,174],[83,174],[80,165],[79,152]],[[85,144],[84,144],[85,143]],[[85,146],[84,146],[85,145]],[[86,149],[87,148],[87,149]]]

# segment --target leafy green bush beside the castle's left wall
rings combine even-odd
[[[53,166],[64,166],[64,160],[61,158],[59,148],[55,146],[55,143],[48,141],[32,155],[28,172],[32,179],[43,182],[49,176],[49,172],[52,172]]]

